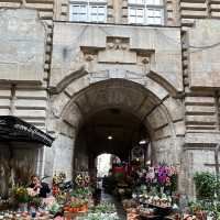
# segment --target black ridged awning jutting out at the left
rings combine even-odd
[[[16,117],[0,116],[0,141],[32,142],[51,146],[54,139]]]

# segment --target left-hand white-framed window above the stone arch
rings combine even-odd
[[[107,21],[107,0],[70,0],[69,20],[105,23]]]

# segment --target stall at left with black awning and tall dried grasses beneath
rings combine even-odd
[[[40,173],[40,153],[54,139],[13,116],[0,116],[0,210],[12,209],[12,188]],[[21,189],[21,193],[22,191]]]

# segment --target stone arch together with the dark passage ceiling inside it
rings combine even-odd
[[[58,131],[53,145],[54,170],[65,169],[70,178],[73,167],[91,167],[103,152],[128,160],[128,150],[143,136],[151,140],[155,163],[179,164],[182,103],[163,87],[122,78],[84,80],[80,87],[78,81],[70,82],[52,99]],[[73,96],[67,97],[70,89]],[[109,132],[114,134],[110,143]]]

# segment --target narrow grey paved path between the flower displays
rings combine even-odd
[[[122,204],[120,201],[118,201],[113,196],[106,194],[102,190],[101,191],[101,201],[108,201],[108,202],[114,204],[120,220],[127,220],[127,215],[123,210]]]

